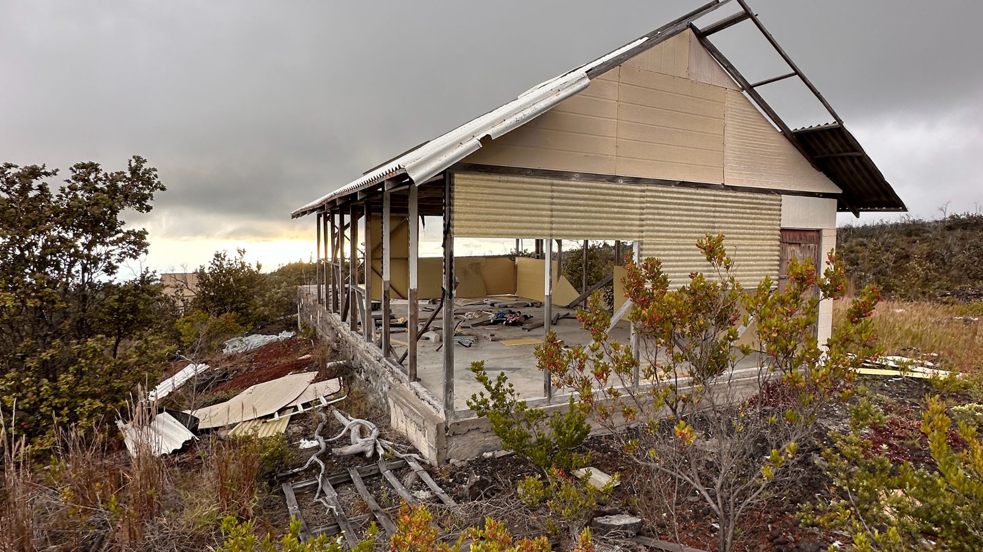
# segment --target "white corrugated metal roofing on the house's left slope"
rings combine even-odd
[[[583,90],[591,83],[598,71],[606,71],[608,65],[617,65],[625,56],[637,55],[654,47],[664,40],[686,29],[689,21],[703,17],[723,6],[714,1],[665,26],[641,36],[624,46],[559,77],[540,83],[523,92],[516,99],[469,121],[464,125],[421,144],[393,161],[383,164],[340,189],[328,193],[291,213],[296,218],[310,214],[335,197],[374,186],[394,176],[405,174],[413,183],[419,185],[434,177],[440,171],[464,159],[482,146],[485,138],[498,138],[509,131],[521,127],[539,115],[549,111],[557,103]],[[615,63],[616,62],[616,63]]]

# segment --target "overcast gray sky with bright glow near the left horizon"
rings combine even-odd
[[[749,1],[913,215],[983,204],[983,4]],[[276,264],[311,250],[293,208],[701,3],[6,0],[0,161],[143,155],[168,188],[133,221],[150,265]],[[715,42],[751,81],[784,73],[751,29]],[[769,88],[790,124],[827,122],[793,92]]]

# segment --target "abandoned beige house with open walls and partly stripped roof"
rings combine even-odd
[[[708,18],[725,4],[739,10]],[[711,40],[739,24],[760,31],[787,73],[742,76]],[[760,93],[786,79],[832,121],[790,129]],[[301,320],[338,339],[385,397],[393,427],[431,460],[469,458],[496,447],[466,404],[480,389],[473,361],[505,371],[531,406],[558,408],[567,398],[534,356],[549,330],[589,343],[569,314],[609,284],[611,335],[631,339],[623,268],[615,262],[594,286],[571,281],[560,274],[564,246],[661,258],[678,286],[706,267],[697,239],[722,233],[745,286],[765,276],[781,285],[788,258],[825,260],[838,211],[903,210],[744,0],[715,1],[294,211],[317,220],[318,284],[301,289]],[[423,217],[442,224],[440,257],[420,256]],[[535,254],[455,251],[455,240],[473,238],[524,241]],[[832,310],[821,304],[821,341]]]

